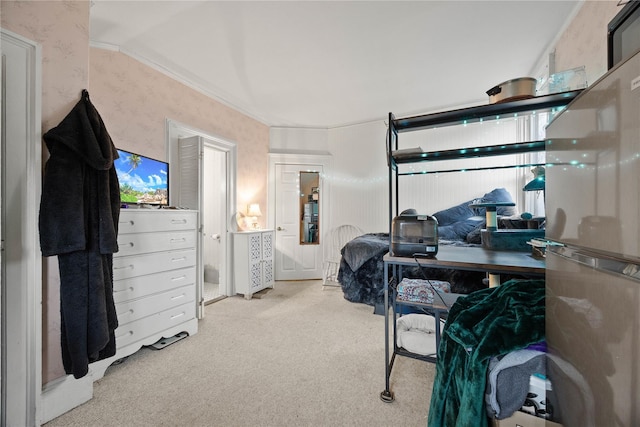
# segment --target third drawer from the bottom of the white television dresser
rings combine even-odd
[[[195,267],[116,280],[113,282],[113,300],[118,304],[181,286],[195,288],[195,283]]]

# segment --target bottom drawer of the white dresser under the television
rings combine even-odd
[[[116,349],[120,349],[155,334],[162,333],[162,331],[166,329],[194,319],[195,316],[196,305],[194,302],[190,302],[121,325],[115,331]]]

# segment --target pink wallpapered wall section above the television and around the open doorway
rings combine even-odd
[[[217,135],[238,146],[238,208],[266,207],[268,126],[123,53],[91,48],[89,60],[91,99],[118,148],[164,159],[166,118]]]

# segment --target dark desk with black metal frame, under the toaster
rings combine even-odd
[[[417,259],[417,261],[416,261]],[[536,259],[531,256],[529,252],[515,252],[515,251],[492,251],[481,247],[465,247],[465,246],[440,246],[438,248],[438,254],[435,258],[425,257],[393,257],[386,254],[383,257],[384,261],[384,318],[385,318],[385,370],[386,370],[386,388],[380,393],[380,398],[384,402],[392,402],[394,397],[390,390],[389,378],[391,376],[391,370],[393,369],[393,362],[397,354],[403,356],[415,357],[417,359],[434,362],[433,357],[417,357],[412,356],[407,351],[399,350],[397,348],[397,337],[395,330],[396,321],[396,301],[393,298],[394,307],[394,336],[393,336],[393,354],[390,357],[389,352],[389,281],[395,281],[399,283],[402,280],[402,267],[403,266],[416,266],[416,262],[424,267],[431,268],[449,268],[454,270],[472,270],[472,271],[484,271],[490,276],[490,285],[499,284],[500,274],[522,274],[528,276],[544,276],[545,274],[545,262],[544,260]],[[391,268],[392,277],[389,278],[389,268]],[[395,295],[395,294],[394,294]],[[440,316],[448,312],[448,307],[451,306],[450,302],[455,302],[459,295],[451,294],[449,301],[446,301],[446,305],[443,305],[440,300],[434,298],[433,304],[411,304],[422,308],[430,309],[434,313],[436,318],[436,343],[440,341],[439,322]]]

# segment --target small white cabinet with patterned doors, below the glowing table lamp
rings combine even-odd
[[[233,277],[236,293],[246,299],[265,288],[272,288],[273,230],[256,230],[233,233]]]

